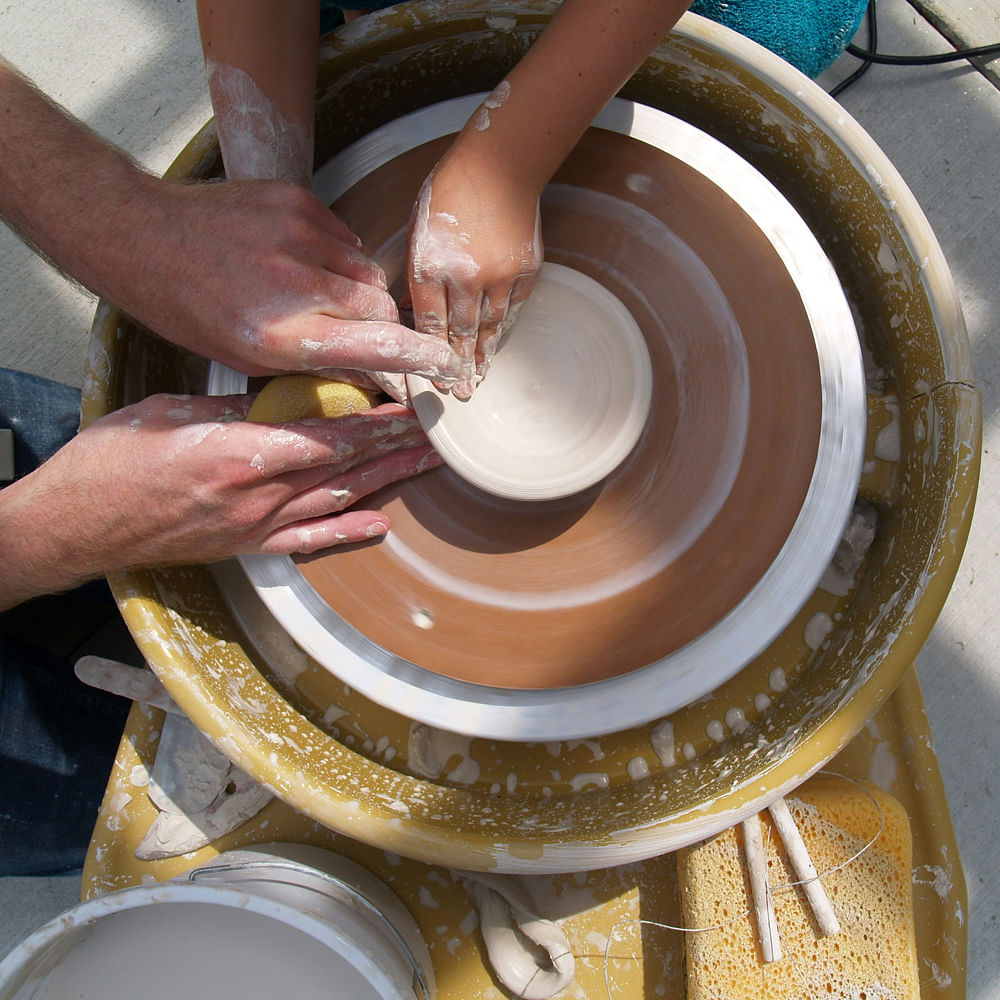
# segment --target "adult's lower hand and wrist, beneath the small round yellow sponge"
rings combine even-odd
[[[440,464],[395,403],[282,426],[251,397],[151,396],[96,421],[0,493],[0,608],[114,570],[314,552],[384,535],[354,509]]]

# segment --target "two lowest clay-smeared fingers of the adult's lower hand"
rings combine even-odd
[[[389,530],[388,517],[350,508],[392,483],[440,464],[440,457],[427,446],[405,448],[305,489],[275,512],[272,520],[278,526],[263,540],[260,551],[306,554],[384,535]]]

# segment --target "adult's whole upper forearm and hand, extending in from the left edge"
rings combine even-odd
[[[458,374],[399,324],[378,267],[284,181],[174,184],[140,170],[0,59],[0,215],[91,291],[248,375]]]

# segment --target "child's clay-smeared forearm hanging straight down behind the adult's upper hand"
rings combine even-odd
[[[318,0],[198,0],[226,176],[312,179]]]

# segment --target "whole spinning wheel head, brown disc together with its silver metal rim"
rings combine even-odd
[[[392,122],[317,174],[396,293],[410,206],[475,102]],[[546,260],[641,331],[651,393],[624,460],[533,502],[445,467],[376,498],[392,520],[379,544],[242,560],[282,626],[355,690],[515,740],[637,725],[761,652],[836,548],[865,430],[860,349],[829,261],[710,136],[613,102],[546,189],[542,230]],[[495,376],[503,388],[503,361],[477,394]]]

